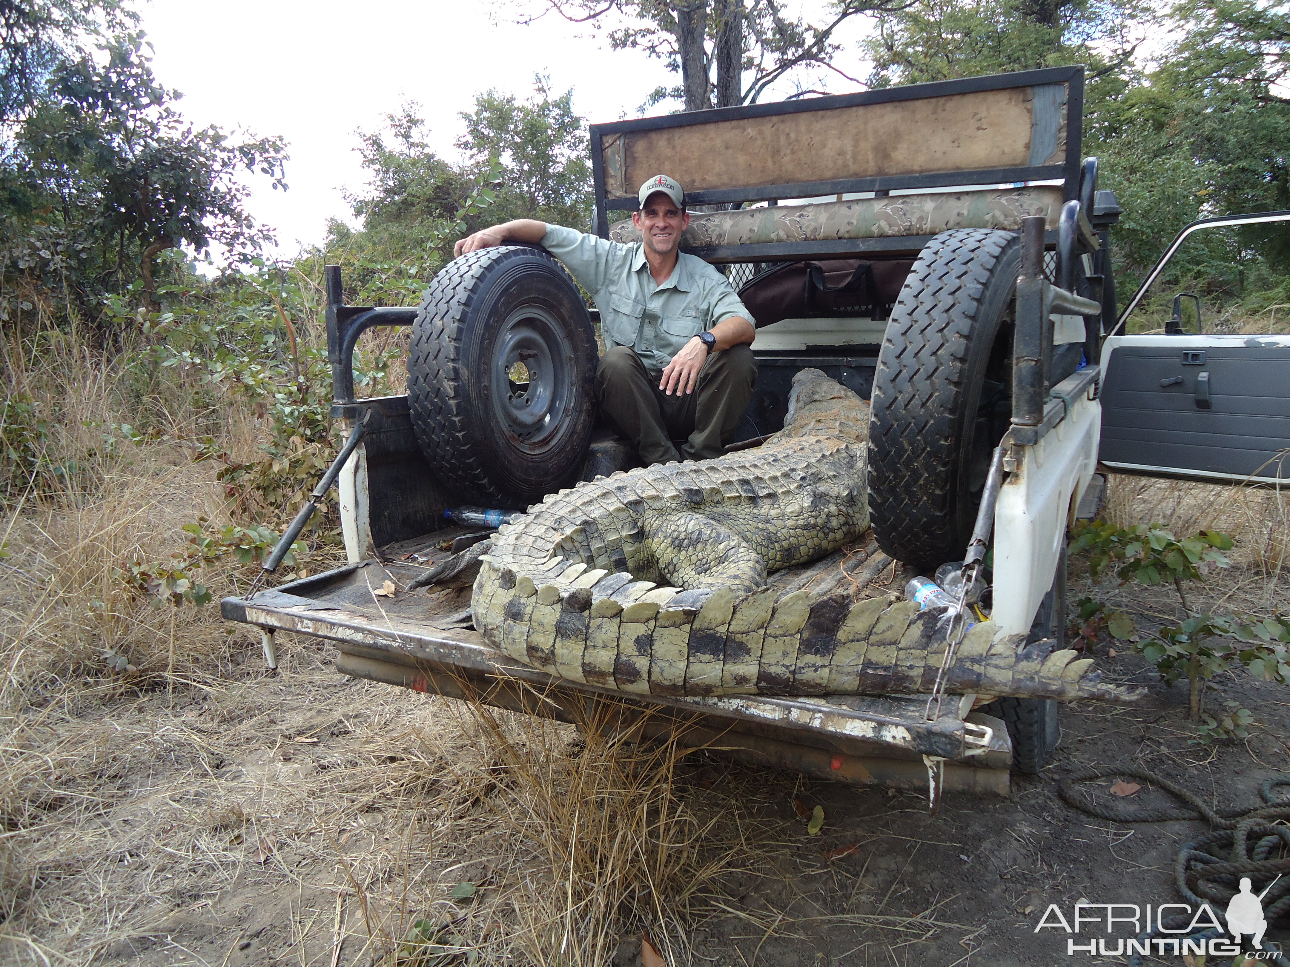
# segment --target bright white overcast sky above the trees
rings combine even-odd
[[[475,0],[152,0],[138,9],[157,79],[183,93],[186,117],[289,142],[290,190],[253,183],[250,210],[292,255],[298,244],[321,241],[328,218],[350,219],[342,190],[364,183],[355,130],[378,128],[404,99],[422,104],[435,151],[455,157],[458,113],[475,95],[495,88],[526,97],[537,71],[551,75],[556,92],[573,88],[574,108],[592,122],[635,117],[650,90],[676,83],[660,61],[613,52],[553,14],[521,27],[510,8],[495,19],[490,8]],[[849,50],[838,64],[851,76],[863,76],[853,53],[863,30],[857,22],[844,37]],[[827,83],[831,93],[857,89],[836,75]],[[778,97],[792,90],[786,85]]]

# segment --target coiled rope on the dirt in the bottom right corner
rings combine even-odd
[[[1187,807],[1165,806],[1146,807],[1127,803],[1100,805],[1090,802],[1076,792],[1082,783],[1113,776],[1142,779],[1149,785],[1164,789]],[[1117,768],[1093,768],[1076,772],[1058,784],[1058,796],[1067,805],[1098,819],[1113,823],[1171,823],[1175,820],[1202,819],[1213,828],[1200,839],[1184,843],[1174,860],[1174,883],[1183,899],[1193,906],[1210,904],[1219,922],[1227,924],[1227,904],[1240,890],[1241,877],[1249,877],[1254,894],[1272,883],[1277,874],[1281,879],[1273,883],[1263,897],[1263,917],[1271,924],[1285,918],[1290,921],[1290,796],[1277,796],[1278,788],[1290,789],[1290,775],[1273,776],[1263,783],[1259,794],[1265,806],[1253,810],[1214,810],[1200,797],[1179,785],[1136,766]],[[1162,926],[1170,930],[1186,927],[1187,917],[1175,917]],[[1155,931],[1144,936],[1152,936]],[[1176,933],[1170,936],[1179,936]],[[1192,939],[1213,936],[1211,932],[1196,935]],[[1290,964],[1285,954],[1273,953],[1264,963]],[[1130,967],[1136,967],[1140,959],[1130,958]]]

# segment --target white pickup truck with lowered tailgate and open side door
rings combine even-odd
[[[795,374],[824,371],[872,407],[872,539],[850,552],[872,565],[866,593],[964,560],[975,532],[991,619],[1058,647],[1066,534],[1095,512],[1099,468],[1290,482],[1278,456],[1290,338],[1200,331],[1197,297],[1184,326],[1183,295],[1164,331],[1127,326],[1195,233],[1290,213],[1189,226],[1117,313],[1108,232],[1121,209],[1081,155],[1082,95],[1084,70],[1059,67],[591,128],[596,231],[631,241],[635,186],[671,174],[693,215],[682,249],[721,267],[756,316],[757,386],[729,450],[779,429]],[[930,780],[933,794],[1006,793],[1011,768],[1045,765],[1053,699],[955,695],[933,709],[925,695],[628,695],[491,649],[466,587],[408,592],[488,536],[449,508],[522,511],[636,465],[596,424],[600,313],[544,251],[490,251],[449,263],[417,308],[346,306],[328,269],[350,563],[223,601],[227,619],[261,629],[271,667],[277,632],[312,636],[359,678],[570,722],[595,714],[836,781]],[[353,349],[373,326],[412,326],[406,396],[355,396]],[[838,567],[835,554],[771,587]]]

